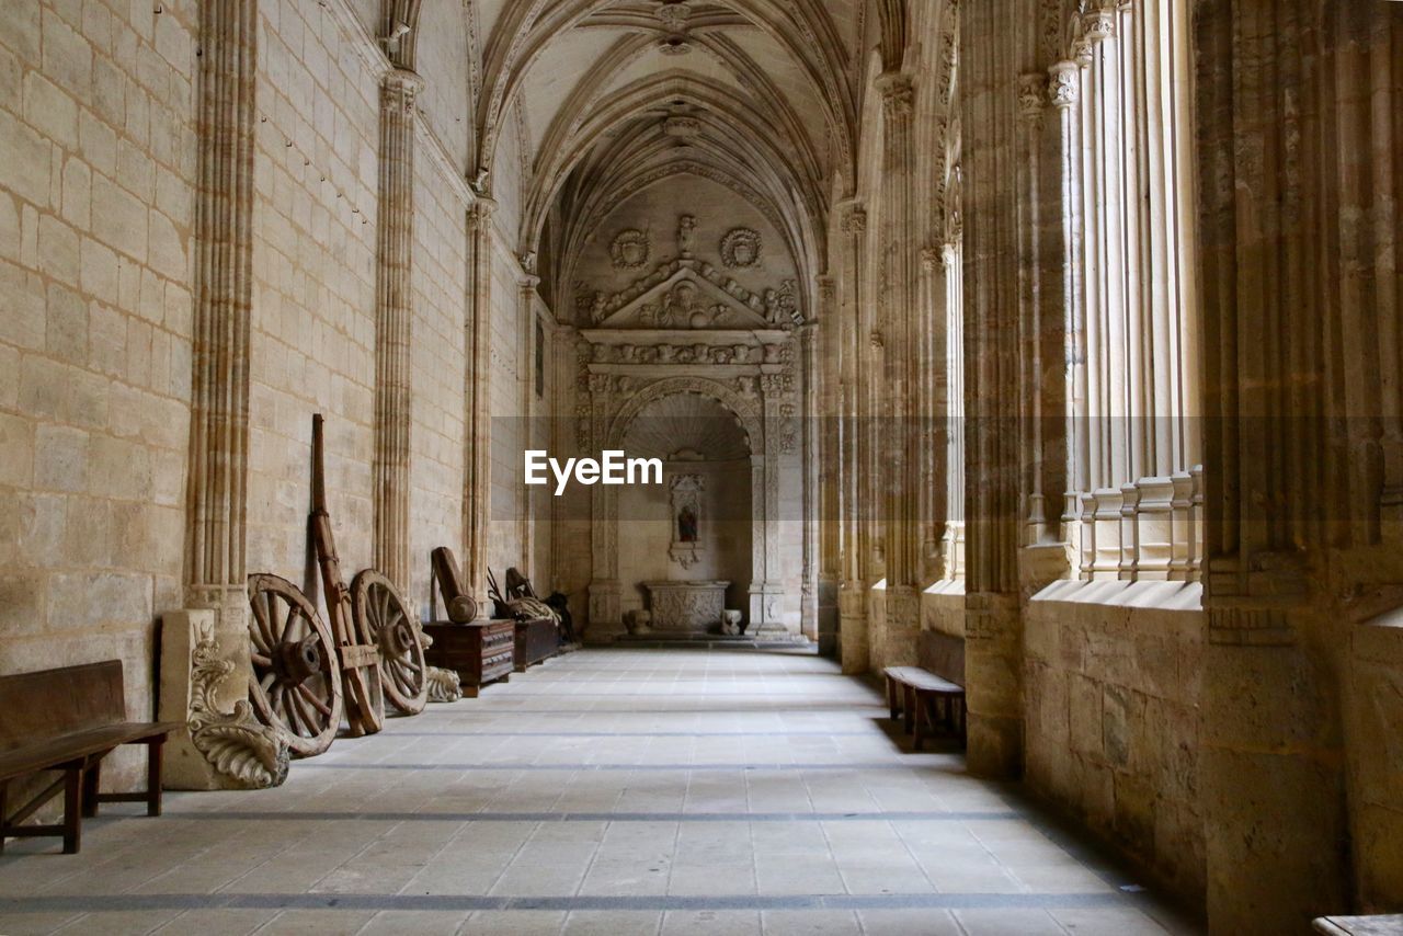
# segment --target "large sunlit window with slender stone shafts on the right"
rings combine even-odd
[[[1082,578],[1198,578],[1188,6],[1085,11],[1052,69],[1072,278],[1070,490]]]

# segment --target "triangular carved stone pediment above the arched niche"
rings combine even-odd
[[[655,278],[650,278],[655,279]],[[717,276],[716,279],[723,279]],[[727,285],[731,286],[730,289]],[[626,295],[626,293],[624,293]],[[759,305],[756,310],[753,306]],[[765,330],[763,305],[735,281],[714,282],[692,264],[679,264],[596,323],[598,328]]]

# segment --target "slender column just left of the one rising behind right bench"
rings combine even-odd
[[[864,295],[863,240],[867,234],[867,212],[861,202],[850,201],[839,206],[843,232],[843,295],[839,314],[839,654],[843,672],[866,672],[867,641],[867,585],[863,581],[863,550],[867,547],[861,504],[861,389],[859,383],[864,340],[859,328]]]

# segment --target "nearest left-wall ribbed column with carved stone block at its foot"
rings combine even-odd
[[[253,672],[246,542],[258,3],[208,3],[199,13],[187,608],[161,616],[157,711],[187,726],[166,745],[166,784],[182,790],[274,786],[288,770],[286,742],[236,707]],[[210,742],[250,758],[222,759]]]

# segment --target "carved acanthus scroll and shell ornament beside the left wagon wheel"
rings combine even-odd
[[[281,786],[288,779],[288,741],[254,717],[247,699],[234,703],[233,711],[220,711],[216,690],[234,671],[223,660],[219,643],[205,637],[191,654],[189,728],[191,744],[231,786],[262,790]]]

